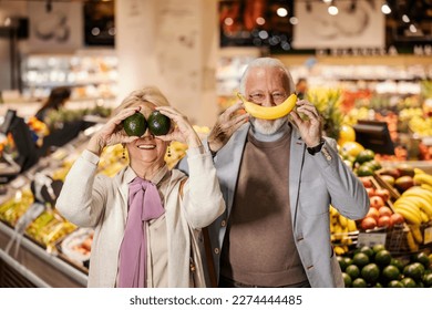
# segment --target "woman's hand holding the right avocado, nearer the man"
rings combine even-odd
[[[157,136],[157,138],[163,141],[178,141],[186,143],[189,147],[198,147],[202,145],[198,134],[185,115],[172,106],[156,106],[155,108],[175,123],[174,130],[166,135]]]

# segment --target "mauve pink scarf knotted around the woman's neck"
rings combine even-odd
[[[156,186],[135,177],[128,185],[128,214],[120,248],[120,288],[145,288],[147,266],[146,225],[165,213]]]

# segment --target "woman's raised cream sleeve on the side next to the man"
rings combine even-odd
[[[225,211],[212,154],[204,148],[187,151],[188,179],[184,186],[184,207],[188,223],[194,228],[210,225]]]

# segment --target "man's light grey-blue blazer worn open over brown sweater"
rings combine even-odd
[[[226,211],[209,226],[216,275],[249,127],[250,124],[241,126],[214,157],[226,203]],[[335,140],[326,138],[321,152],[312,156],[299,132],[291,127],[287,190],[295,242],[312,288],[343,287],[330,242],[329,205],[348,218],[360,219],[369,210],[369,197],[359,178],[339,157]],[[178,167],[187,172],[185,162]]]

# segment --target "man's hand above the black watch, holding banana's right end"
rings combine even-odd
[[[300,131],[301,138],[308,147],[317,146],[322,135],[322,118],[317,107],[306,100],[296,103],[297,108],[291,111],[290,116]],[[305,114],[307,120],[302,120],[299,113]]]

